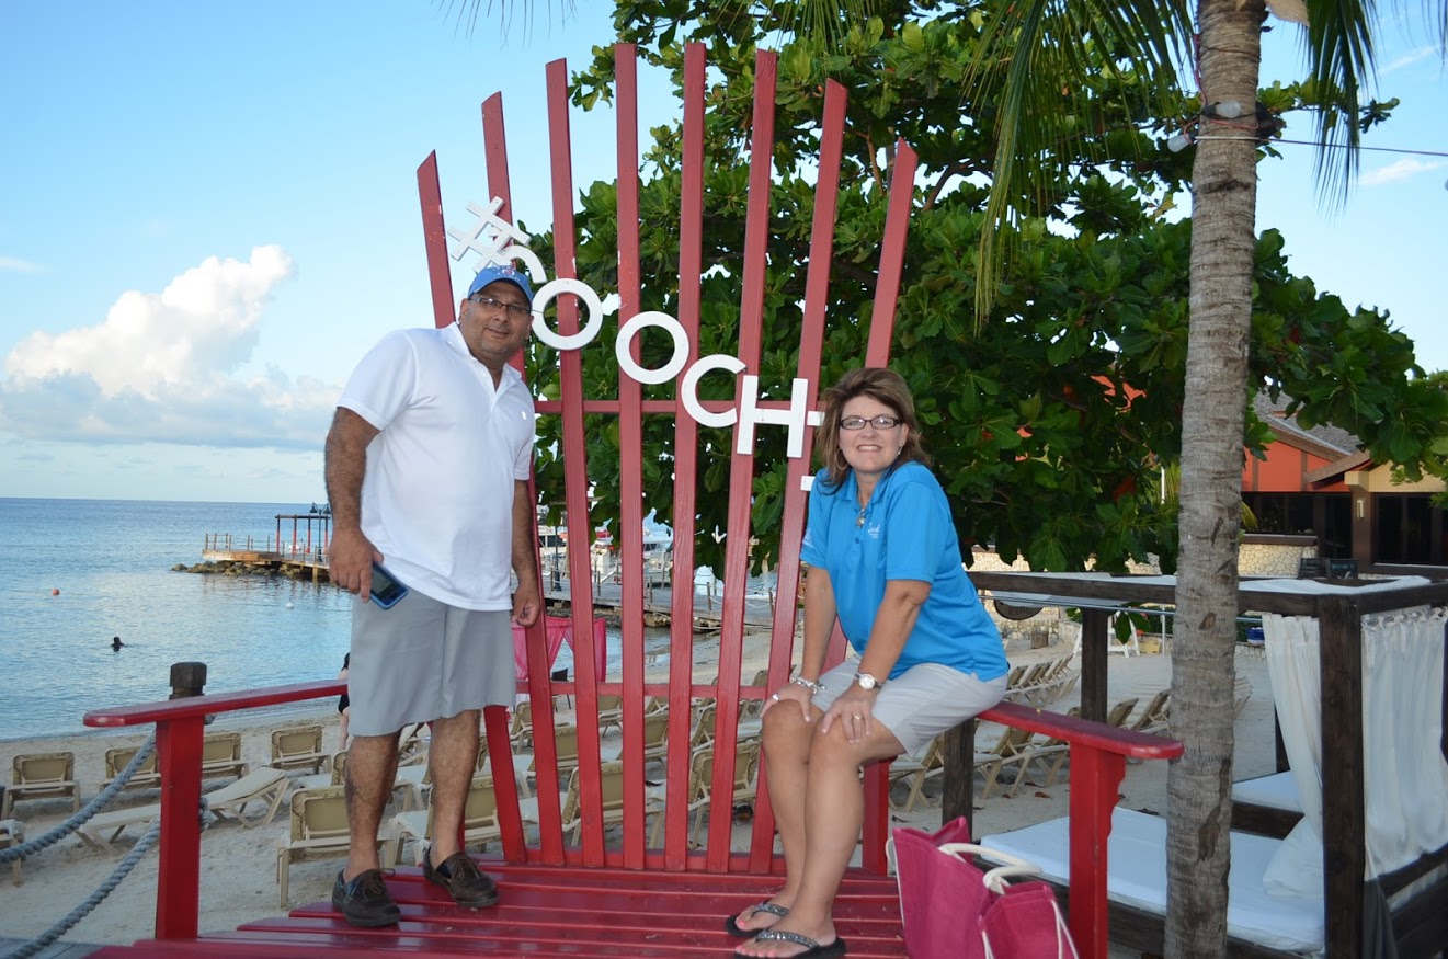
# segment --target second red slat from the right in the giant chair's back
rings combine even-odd
[[[834,220],[840,200],[840,162],[844,152],[844,112],[849,97],[834,80],[825,84],[824,120],[820,129],[820,178],[815,181],[814,222],[809,233],[809,274],[805,278],[804,327],[799,336],[799,359],[795,375],[809,381],[808,409],[815,409],[820,397],[820,359],[824,351],[824,322],[830,297],[830,271],[834,258]],[[763,406],[763,404],[760,404]],[[779,532],[779,562],[776,568],[773,645],[769,652],[769,684],[776,688],[789,677],[794,661],[795,623],[799,608],[795,600],[799,588],[799,546],[805,532],[805,507],[809,497],[801,488],[811,475],[814,430],[805,432],[804,455],[791,459],[785,480],[785,514]],[[754,824],[750,840],[750,868],[766,869],[775,849],[775,816],[769,805],[765,765],[759,766],[759,798],[754,801]]]

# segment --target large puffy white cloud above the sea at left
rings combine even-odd
[[[279,246],[258,246],[248,262],[211,256],[159,294],[123,293],[97,326],[32,333],[6,356],[0,427],[68,442],[316,449],[336,385],[279,369],[236,375],[291,274]]]

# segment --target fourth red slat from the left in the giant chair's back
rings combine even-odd
[[[618,323],[639,313],[639,62],[633,43],[614,46],[614,116],[618,132]],[[637,361],[637,340],[631,348]],[[633,377],[618,377],[618,545],[623,574],[624,856],[641,868],[644,842],[643,759],[643,411]],[[599,677],[602,678],[602,677]],[[582,716],[582,708],[579,710]]]

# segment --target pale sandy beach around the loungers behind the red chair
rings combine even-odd
[[[1024,637],[1008,639],[1008,655],[1012,663],[1032,658],[1054,658],[1070,652],[1069,646],[1053,645],[1031,649]],[[701,639],[695,643],[695,675],[710,681],[715,674],[718,642]],[[765,642],[746,643],[743,675],[752,677],[766,661]],[[665,666],[666,668],[666,666]],[[1245,779],[1273,771],[1273,726],[1271,692],[1267,681],[1266,661],[1260,653],[1242,650],[1237,658],[1238,675],[1251,684],[1251,697],[1237,721],[1235,778]],[[652,666],[656,674],[659,666]],[[1112,655],[1109,663],[1109,697],[1115,703],[1125,697],[1138,697],[1140,704],[1170,684],[1171,663],[1166,655]],[[654,675],[650,675],[653,679]],[[662,675],[659,678],[663,678]],[[1048,708],[1064,711],[1076,704],[1079,694],[1072,690]],[[219,717],[213,729],[240,730],[243,759],[252,768],[266,765],[271,749],[271,732],[288,724],[321,723],[324,726],[324,747],[337,747],[337,713],[333,704],[319,704],[313,710],[290,713],[285,717],[232,714]],[[614,733],[617,734],[617,733]],[[977,746],[993,742],[989,727],[977,734]],[[70,750],[75,753],[75,774],[81,784],[81,797],[88,800],[97,794],[104,774],[104,752],[117,745],[139,743],[143,736],[77,736],[68,739],[30,739],[0,743],[0,769],[7,771],[16,753]],[[1129,765],[1122,784],[1121,804],[1134,810],[1166,813],[1167,808],[1167,765],[1147,762]],[[223,785],[224,779],[206,784],[207,790]],[[896,787],[899,790],[901,787]],[[940,826],[938,784],[931,781],[927,795],[933,804],[917,807],[911,814],[896,814],[898,824],[935,829]],[[979,794],[979,782],[976,787]],[[898,792],[898,797],[902,795]],[[117,800],[122,805],[136,805],[156,801],[156,790],[130,790]],[[113,807],[114,808],[114,807]],[[25,800],[12,814],[25,823],[28,837],[41,836],[49,827],[61,823],[70,814],[67,800]],[[1003,832],[1030,826],[1047,818],[1064,816],[1067,811],[1067,785],[1057,782],[1050,788],[1022,787],[1014,797],[993,794],[976,801],[977,834]],[[201,916],[200,927],[209,930],[230,930],[239,924],[277,916],[277,846],[287,834],[285,807],[278,817],[265,826],[243,829],[233,821],[214,824],[203,833],[201,855]],[[738,827],[744,836],[747,827]],[[139,836],[140,830],[127,830]],[[122,840],[129,847],[129,839]],[[25,863],[23,884],[13,887],[9,872],[0,878],[0,937],[23,939],[45,931],[49,926],[78,905],[120,862],[119,856],[91,850],[77,837],[67,837],[49,849],[32,856]],[[324,900],[330,894],[332,879],[339,868],[337,860],[319,860],[294,865],[291,869],[291,905]],[[127,878],[90,917],[71,930],[64,940],[75,943],[130,943],[152,933],[156,897],[156,856],[151,852]],[[1122,956],[1128,955],[1125,952]]]

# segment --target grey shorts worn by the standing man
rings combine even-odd
[[[417,590],[390,610],[353,606],[353,736],[388,736],[484,705],[511,708],[515,692],[508,611],[463,610]]]

